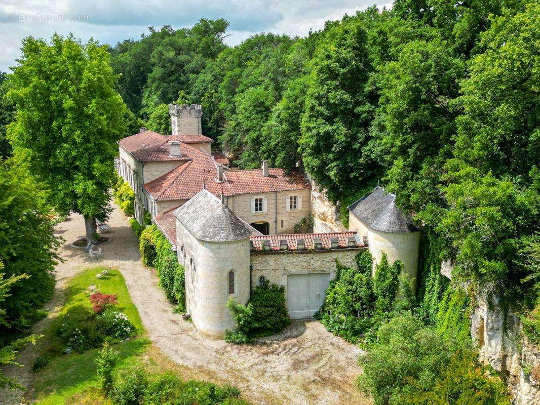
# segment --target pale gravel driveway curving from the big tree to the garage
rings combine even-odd
[[[279,340],[250,346],[200,336],[192,323],[173,313],[157,285],[156,275],[141,264],[137,239],[117,208],[109,225],[113,240],[103,246],[100,260],[90,260],[87,253],[69,246],[69,242],[83,236],[80,215],[72,215],[59,225],[57,233],[66,239],[60,255],[66,261],[56,268],[58,284],[46,308],[52,311],[49,318],[62,305],[67,279],[84,268],[111,266],[124,275],[152,342],[179,366],[186,378],[232,384],[246,399],[260,404],[370,403],[354,387],[354,379],[361,371],[356,365],[359,349],[328,333],[319,322],[294,322]],[[36,325],[37,333],[48,325],[49,318]],[[37,352],[33,347],[24,350],[19,361],[25,367],[15,370],[26,386],[31,386],[29,370]],[[3,394],[0,392],[0,398],[9,402],[2,403],[18,403],[17,395],[8,399]]]

